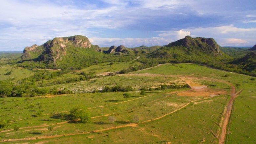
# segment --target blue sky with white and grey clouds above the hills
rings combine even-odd
[[[256,0],[1,0],[0,51],[83,35],[93,45],[167,45],[191,37],[256,44]]]

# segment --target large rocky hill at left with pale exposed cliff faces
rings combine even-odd
[[[75,62],[79,63],[91,55],[97,56],[100,52],[99,46],[92,45],[85,36],[56,37],[43,45],[35,44],[24,48],[21,62],[37,61],[46,63],[48,65],[46,67],[57,68],[63,65],[62,63],[69,63],[67,64],[69,66]]]

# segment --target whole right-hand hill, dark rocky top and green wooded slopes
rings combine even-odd
[[[186,36],[153,51],[148,55],[148,58],[157,58],[161,63],[195,62],[209,64],[230,57],[220,51],[219,45],[213,38]]]

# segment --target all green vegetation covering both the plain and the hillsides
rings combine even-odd
[[[234,86],[239,94],[226,143],[254,143],[253,51],[237,52],[234,59],[211,51],[206,39],[187,39],[116,54],[92,45],[82,49],[69,40],[61,61],[47,55],[49,41],[37,53],[30,51],[33,59],[1,59],[0,141],[218,143]],[[188,84],[207,88],[191,90]]]

